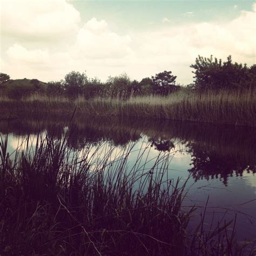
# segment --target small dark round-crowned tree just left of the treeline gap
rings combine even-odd
[[[177,76],[171,75],[172,71],[164,71],[152,76],[154,90],[161,93],[169,93],[176,89],[175,80]]]

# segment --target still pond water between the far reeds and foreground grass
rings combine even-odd
[[[138,162],[138,152],[143,149],[150,170],[151,159],[159,151],[170,158],[168,178],[181,177],[187,182],[188,194],[184,206],[198,206],[198,215],[191,221],[194,227],[200,219],[207,198],[205,225],[210,228],[223,217],[234,219],[237,215],[237,238],[251,240],[256,237],[256,129],[204,123],[181,123],[168,120],[149,120],[115,117],[91,117],[76,114],[24,116],[15,120],[0,120],[0,135],[9,134],[8,151],[13,152],[28,138],[36,143],[36,134],[51,134],[62,138],[69,134],[69,146],[74,150],[88,144],[94,147],[104,143],[100,158],[114,146],[111,158],[122,156],[127,145],[133,150],[127,161]],[[139,166],[139,163],[138,163]],[[144,166],[145,167],[145,166]]]

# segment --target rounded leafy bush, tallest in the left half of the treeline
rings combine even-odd
[[[86,74],[78,71],[71,71],[65,76],[64,80],[62,80],[66,93],[71,97],[76,97],[82,93],[87,82],[88,78]]]

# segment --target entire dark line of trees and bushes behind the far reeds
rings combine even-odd
[[[256,65],[248,67],[232,61],[228,56],[226,61],[222,59],[198,56],[194,64],[190,66],[194,70],[194,81],[187,85],[190,90],[220,90],[220,89],[244,89],[255,86]],[[126,73],[109,77],[106,82],[97,77],[89,78],[85,72],[71,71],[63,80],[57,82],[42,83],[37,79],[24,83],[24,79],[10,80],[10,76],[0,73],[0,90],[10,97],[21,97],[32,92],[42,92],[52,96],[86,98],[95,96],[110,96],[127,98],[138,95],[168,95],[180,90],[176,83],[177,76],[172,71],[163,71],[155,76],[142,80],[132,80]]]

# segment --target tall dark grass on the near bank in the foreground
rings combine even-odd
[[[145,153],[140,149],[127,171],[133,144],[121,153],[106,144],[72,151],[68,141],[38,135],[29,146],[28,137],[9,154],[8,136],[1,137],[1,255],[255,253],[235,242],[235,221],[206,232],[203,214],[187,231],[195,208],[183,209],[185,184],[166,176],[168,153],[159,153],[147,170],[137,165]]]

